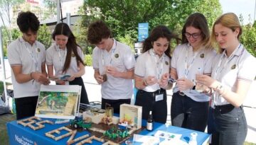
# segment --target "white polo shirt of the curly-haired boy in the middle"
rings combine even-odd
[[[105,74],[105,66],[114,66],[118,71],[125,72],[134,69],[135,58],[129,46],[114,40],[109,52],[98,47],[92,51],[93,69]],[[107,74],[107,81],[102,83],[102,98],[118,100],[132,98],[132,79],[115,78]]]

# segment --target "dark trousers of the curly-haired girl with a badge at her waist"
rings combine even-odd
[[[164,95],[163,100],[155,101],[156,92],[146,92],[143,90],[137,91],[135,105],[142,106],[142,119],[147,120],[149,117],[149,111],[152,111],[154,121],[166,123],[167,120],[167,102],[166,102],[166,90],[161,89],[161,93]]]

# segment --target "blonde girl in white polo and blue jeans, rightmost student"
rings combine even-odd
[[[212,144],[243,144],[247,122],[242,109],[247,91],[256,76],[256,59],[239,42],[242,34],[238,16],[225,13],[213,24],[213,42],[220,54],[213,62],[212,75],[197,75],[196,81],[213,88],[213,122],[215,136]]]

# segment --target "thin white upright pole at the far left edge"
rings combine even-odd
[[[6,91],[6,74],[5,74],[5,67],[4,67],[4,47],[3,47],[3,37],[2,37],[2,27],[0,27],[0,54],[1,54],[1,71],[3,76],[3,83],[4,83],[4,95],[5,95],[5,104],[9,106],[9,98]]]

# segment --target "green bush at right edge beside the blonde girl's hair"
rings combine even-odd
[[[240,42],[250,54],[256,57],[256,26],[251,24],[243,25],[242,30]]]

